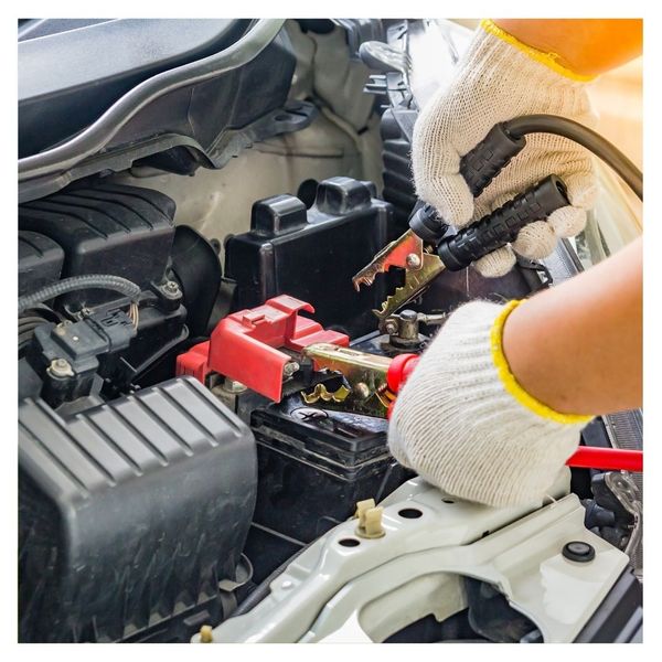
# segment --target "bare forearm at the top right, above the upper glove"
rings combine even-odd
[[[641,19],[493,19],[520,42],[558,55],[558,64],[594,76],[641,55]]]

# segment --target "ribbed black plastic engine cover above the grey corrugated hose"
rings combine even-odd
[[[65,252],[62,277],[122,276],[149,289],[161,282],[174,238],[174,202],[150,189],[76,184],[19,207],[19,228],[38,232]],[[117,299],[81,290],[62,298],[74,310]]]

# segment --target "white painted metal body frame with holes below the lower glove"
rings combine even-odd
[[[428,613],[442,620],[463,609],[465,576],[493,585],[544,641],[573,641],[628,557],[585,528],[568,488],[565,470],[551,491],[558,501],[493,509],[408,481],[381,503],[384,536],[359,538],[355,520],[340,524],[253,610],[215,628],[214,642],[383,641]],[[570,541],[591,545],[595,558],[565,558]]]

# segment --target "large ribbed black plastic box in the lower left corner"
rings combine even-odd
[[[234,579],[255,441],[196,381],[67,418],[26,399],[19,462],[21,641],[135,639]]]

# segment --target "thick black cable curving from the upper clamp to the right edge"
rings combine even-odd
[[[504,125],[508,134],[514,139],[523,138],[527,134],[553,134],[577,142],[612,168],[639,200],[643,200],[641,170],[616,146],[592,129],[556,115],[523,115]]]

